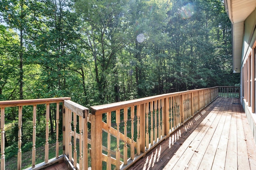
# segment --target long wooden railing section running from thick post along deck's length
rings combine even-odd
[[[217,97],[214,87],[90,107],[92,169],[129,168]]]

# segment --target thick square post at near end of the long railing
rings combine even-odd
[[[91,118],[91,165],[92,170],[100,170],[102,169],[102,114],[92,115]]]

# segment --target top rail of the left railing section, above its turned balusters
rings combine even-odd
[[[14,107],[14,106],[27,106],[37,104],[50,104],[64,102],[64,100],[70,100],[69,97],[64,98],[45,98],[45,99],[28,99],[28,100],[9,100],[0,101],[0,107]]]

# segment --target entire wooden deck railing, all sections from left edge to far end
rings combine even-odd
[[[218,96],[237,91],[239,94],[239,89],[224,86],[188,90],[92,106],[91,113],[88,108],[70,101],[70,98],[0,101],[1,170],[5,169],[6,107],[18,107],[17,169],[22,169],[22,107],[27,105],[33,106],[32,166],[28,169],[40,169],[60,160],[65,160],[70,167],[79,170],[88,167],[92,170],[127,169]],[[36,164],[36,114],[40,104],[46,108],[45,160]],[[56,107],[56,156],[49,160],[50,104]],[[59,134],[60,116],[63,134]],[[59,141],[60,135],[63,135],[63,141]],[[63,154],[59,154],[60,142]]]

